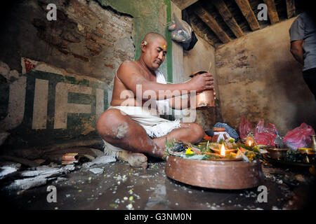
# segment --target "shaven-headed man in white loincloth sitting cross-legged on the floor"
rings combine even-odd
[[[190,97],[183,101],[181,94],[213,89],[211,73],[195,76],[186,83],[166,84],[158,70],[167,52],[164,36],[146,34],[141,50],[138,60],[119,66],[110,107],[97,123],[98,133],[105,141],[105,153],[129,162],[132,167],[147,167],[146,155],[162,158],[166,139],[192,144],[201,141],[204,130],[200,125],[166,120],[152,112],[157,112],[159,104],[185,109],[190,107]]]

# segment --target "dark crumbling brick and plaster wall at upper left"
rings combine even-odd
[[[95,1],[54,1],[57,20],[48,21],[51,1],[18,1],[4,18],[0,60],[21,72],[21,57],[58,66],[110,84],[119,64],[133,59],[131,16]]]

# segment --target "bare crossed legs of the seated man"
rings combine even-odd
[[[129,162],[132,167],[147,167],[147,154],[162,158],[166,139],[176,139],[195,144],[202,140],[204,131],[196,123],[180,123],[180,127],[172,130],[163,137],[151,139],[145,129],[132,120],[129,115],[118,109],[105,111],[97,123],[100,137],[107,143],[124,148],[119,152],[119,159]]]

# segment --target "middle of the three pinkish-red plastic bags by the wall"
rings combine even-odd
[[[265,126],[263,119],[259,120],[254,130],[254,139],[256,144],[265,146],[275,146],[275,134],[277,127],[271,123]]]

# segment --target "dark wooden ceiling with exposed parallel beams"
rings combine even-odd
[[[187,10],[195,34],[214,47],[298,15],[295,0],[172,1],[181,10]],[[257,18],[261,3],[268,8],[268,20]]]

